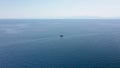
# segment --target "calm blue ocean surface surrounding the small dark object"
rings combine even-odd
[[[0,68],[120,68],[120,20],[1,19]]]

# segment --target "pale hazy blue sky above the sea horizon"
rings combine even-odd
[[[0,0],[0,18],[120,17],[120,0]]]

